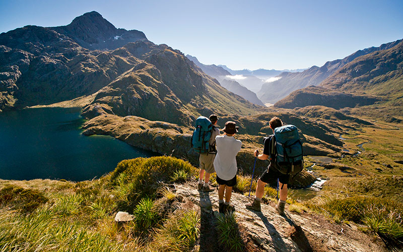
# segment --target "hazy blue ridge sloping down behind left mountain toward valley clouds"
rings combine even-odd
[[[228,80],[231,74],[223,69],[222,67],[216,65],[204,65],[201,64],[196,57],[191,55],[186,55],[187,58],[192,60],[194,64],[199,67],[203,72],[210,75],[213,78],[216,78],[221,86],[226,88],[227,90],[233,92],[234,94],[240,95],[246,100],[260,106],[264,106],[264,104],[257,98],[256,94],[247,89],[246,87],[242,86],[236,81]],[[260,80],[261,81],[261,80]]]

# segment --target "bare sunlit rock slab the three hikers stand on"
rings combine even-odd
[[[177,195],[183,196],[182,204],[191,204],[200,211],[200,251],[216,251],[215,218],[218,213],[218,194],[198,192],[193,185],[178,185]],[[182,197],[180,197],[182,198]],[[286,217],[277,214],[274,203],[262,204],[262,212],[247,210],[246,196],[232,194],[240,231],[251,241],[248,251],[386,251],[373,237],[359,231],[351,224],[335,224],[321,215],[295,214]]]

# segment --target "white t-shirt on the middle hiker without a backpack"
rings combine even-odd
[[[242,142],[234,137],[217,136],[217,156],[214,159],[214,169],[217,176],[224,180],[235,177],[238,167],[236,165],[236,155],[241,150]]]

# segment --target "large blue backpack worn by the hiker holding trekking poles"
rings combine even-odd
[[[270,158],[283,174],[296,175],[302,171],[304,159],[297,127],[285,125],[274,130],[270,139]]]

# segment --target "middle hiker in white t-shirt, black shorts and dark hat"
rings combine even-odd
[[[234,211],[230,205],[232,187],[236,184],[236,155],[241,150],[242,142],[233,136],[238,132],[238,127],[233,121],[227,121],[223,129],[224,135],[216,137],[217,156],[214,159],[214,168],[217,173],[219,212]],[[225,202],[224,202],[225,191]]]

